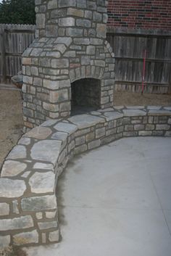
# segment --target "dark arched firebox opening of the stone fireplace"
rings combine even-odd
[[[100,80],[94,78],[83,78],[71,83],[71,115],[99,110],[100,83]]]

